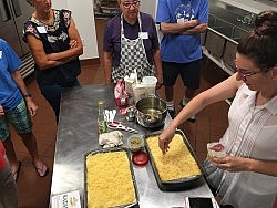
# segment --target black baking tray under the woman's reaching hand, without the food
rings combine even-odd
[[[153,159],[153,157],[151,155],[148,144],[146,142],[146,139],[148,137],[157,136],[160,134],[161,134],[161,132],[145,135],[145,147],[146,147],[146,150],[147,150],[147,153],[150,155],[151,166],[153,168],[154,176],[156,178],[158,188],[161,190],[163,190],[163,191],[178,191],[178,190],[187,190],[187,189],[197,187],[201,184],[199,178],[203,177],[203,169],[202,169],[202,166],[199,165],[199,162],[198,162],[198,159],[197,159],[191,144],[188,143],[188,141],[186,139],[184,133],[181,129],[176,129],[175,134],[179,134],[183,137],[184,143],[186,144],[188,150],[191,152],[192,156],[194,157],[196,164],[198,165],[198,167],[201,169],[201,174],[192,176],[192,177],[185,177],[185,178],[179,178],[179,179],[174,179],[174,180],[167,180],[167,181],[162,181],[161,180],[160,175],[158,175],[157,169],[156,169],[156,166],[155,166],[155,163],[154,163],[154,159]]]

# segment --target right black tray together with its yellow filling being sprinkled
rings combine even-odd
[[[176,131],[165,155],[158,147],[158,135],[148,135],[145,141],[160,189],[183,190],[197,186],[202,169],[183,132]]]

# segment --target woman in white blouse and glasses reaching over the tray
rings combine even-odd
[[[160,135],[164,154],[175,129],[209,104],[234,97],[220,143],[227,156],[204,162],[223,206],[271,208],[277,194],[277,11],[257,15],[237,46],[237,72],[193,98]]]

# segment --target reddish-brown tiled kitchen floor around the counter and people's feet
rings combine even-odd
[[[99,40],[100,60],[102,63],[102,38],[105,20],[96,20],[96,31]],[[93,46],[93,45],[92,45]],[[226,76],[225,73],[213,63],[204,59],[201,89],[198,92],[211,87]],[[82,69],[80,75],[82,85],[104,83],[102,64],[90,65]],[[45,178],[40,178],[20,138],[12,132],[12,141],[19,160],[22,160],[22,168],[18,179],[19,207],[20,208],[47,208],[49,207],[49,195],[52,177],[53,155],[55,149],[54,114],[40,94],[33,76],[25,80],[27,86],[32,93],[39,106],[38,115],[33,118],[33,132],[37,136],[38,147],[41,158],[50,167],[50,174]],[[183,85],[181,80],[176,84],[175,101],[179,103],[183,96]],[[164,97],[163,89],[160,90],[161,97]],[[177,107],[177,106],[176,106]],[[199,160],[206,157],[206,143],[218,141],[227,126],[228,104],[220,102],[208,106],[196,115],[196,122],[185,122],[181,128],[185,132]]]

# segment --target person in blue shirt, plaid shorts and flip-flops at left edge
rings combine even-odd
[[[3,108],[0,116],[0,139],[3,142],[14,180],[19,177],[21,162],[18,162],[9,124],[13,126],[29,150],[33,166],[40,177],[48,174],[48,167],[38,154],[37,141],[32,133],[31,116],[38,106],[32,101],[24,81],[18,71],[21,61],[10,45],[0,39],[0,105]]]

